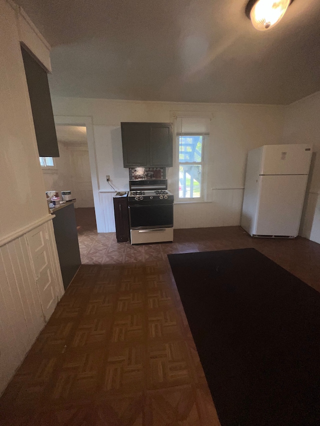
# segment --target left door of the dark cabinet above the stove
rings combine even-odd
[[[123,167],[149,166],[149,124],[121,123],[121,138]]]

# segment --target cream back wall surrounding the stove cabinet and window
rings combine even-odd
[[[102,220],[99,232],[114,231],[112,198],[105,193],[128,189],[128,169],[123,168],[121,121],[169,122],[172,111],[195,111],[213,115],[210,146],[206,149],[207,202],[175,204],[175,228],[238,225],[243,197],[246,155],[249,149],[280,143],[283,106],[196,104],[174,102],[117,101],[53,97],[57,116],[91,116],[94,130],[94,155],[97,192]],[[169,189],[175,186],[168,169]],[[214,188],[214,189],[213,189]]]

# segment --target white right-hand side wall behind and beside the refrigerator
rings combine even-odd
[[[320,243],[320,92],[285,109],[283,143],[312,143],[313,156],[300,235]]]

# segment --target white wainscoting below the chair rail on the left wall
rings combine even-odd
[[[0,247],[0,394],[63,294],[59,269],[51,220]]]

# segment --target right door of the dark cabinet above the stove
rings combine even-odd
[[[150,166],[172,167],[172,128],[170,123],[150,123]]]

